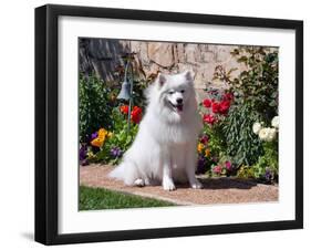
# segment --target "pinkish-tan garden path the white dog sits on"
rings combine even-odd
[[[178,186],[174,191],[165,191],[160,186],[127,187],[122,181],[112,180],[107,174],[111,166],[92,164],[80,167],[80,184],[89,187],[104,187],[111,190],[172,201],[177,205],[240,204],[278,201],[278,187],[232,178],[204,178],[204,189]]]

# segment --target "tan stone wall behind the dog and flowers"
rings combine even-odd
[[[216,65],[230,70],[234,74],[242,69],[230,52],[237,46],[194,43],[144,42],[111,39],[80,39],[80,71],[95,71],[104,81],[114,81],[114,69],[122,64],[122,55],[135,53],[137,72],[144,77],[158,72],[177,73],[191,70],[196,88],[204,88],[212,82]],[[212,82],[214,85],[217,83]]]

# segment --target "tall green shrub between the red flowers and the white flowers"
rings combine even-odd
[[[231,73],[237,69],[227,72],[218,65],[214,73],[214,80],[225,83],[227,91],[235,95],[234,105],[222,122],[226,152],[238,166],[255,166],[259,159],[262,162],[260,157],[266,152],[253,134],[252,125],[257,121],[268,124],[278,114],[278,50],[239,46],[231,54],[246,70],[235,79]],[[278,155],[278,152],[273,154]]]

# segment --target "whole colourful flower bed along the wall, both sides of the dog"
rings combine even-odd
[[[197,174],[278,181],[278,52],[240,46],[232,56],[247,70],[231,77],[235,69],[217,65],[214,80],[219,87],[207,87],[199,103],[204,129]],[[136,79],[128,129],[128,104],[116,100],[121,83],[80,77],[81,165],[120,162],[137,133],[145,106],[142,93],[151,81]]]

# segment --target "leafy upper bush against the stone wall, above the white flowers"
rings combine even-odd
[[[278,114],[278,50],[241,46],[231,54],[247,67],[237,79],[229,81],[236,102],[249,103],[261,121],[270,121]]]

